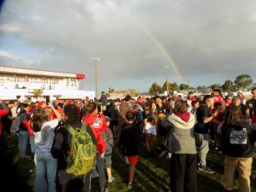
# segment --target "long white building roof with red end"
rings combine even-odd
[[[20,68],[20,67],[0,66],[0,73],[25,74],[25,75],[32,75],[32,76],[38,75],[38,76],[56,77],[56,78],[75,78],[75,79],[85,78],[85,75],[83,73],[63,73],[63,72],[44,71],[44,70]]]

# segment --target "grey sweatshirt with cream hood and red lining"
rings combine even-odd
[[[194,124],[195,117],[190,113],[172,113],[169,116],[171,130],[166,146],[174,154],[196,154]]]

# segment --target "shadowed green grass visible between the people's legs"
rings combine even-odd
[[[14,138],[14,143],[17,143],[17,138]],[[143,144],[142,144],[143,146]],[[29,147],[29,146],[28,146]],[[159,150],[159,148],[157,148]],[[170,160],[158,158],[146,158],[143,155],[143,147],[141,157],[137,165],[136,179],[140,186],[133,191],[144,192],[167,192],[169,189],[169,164]],[[13,164],[20,172],[21,177],[26,180],[27,184],[33,189],[33,181],[35,177],[35,167],[32,160],[20,160],[17,154],[17,148],[13,148],[9,155],[13,158]],[[203,172],[198,172],[198,191],[199,192],[219,192],[222,191],[221,178],[223,176],[223,168],[218,167],[219,152],[212,149],[207,156],[207,164],[211,166],[216,173],[208,175]],[[253,170],[252,175],[256,176],[256,153],[253,153]],[[33,172],[29,173],[32,169]],[[128,166],[125,164],[122,155],[118,150],[113,150],[113,177],[116,180],[113,183],[108,183],[110,192],[125,192],[128,181]],[[237,174],[236,174],[237,178]],[[256,192],[256,181],[251,179],[252,192]],[[235,189],[237,189],[237,180],[235,179]],[[92,180],[92,192],[99,191],[98,178]]]

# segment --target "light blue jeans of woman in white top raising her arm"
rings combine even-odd
[[[35,154],[36,179],[35,192],[55,192],[55,176],[57,171],[57,160],[51,154]],[[46,181],[47,179],[47,181]],[[48,183],[48,186],[47,186]]]

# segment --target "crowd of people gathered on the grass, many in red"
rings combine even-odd
[[[189,92],[186,98],[139,96],[135,100],[127,95],[111,100],[102,92],[94,101],[2,102],[1,143],[9,134],[17,135],[20,159],[35,163],[35,192],[90,191],[92,177],[98,177],[99,190],[107,192],[106,181],[115,182],[113,148],[129,165],[129,190],[137,185],[136,166],[139,156],[144,155],[171,160],[170,191],[195,192],[197,170],[214,173],[214,167],[207,165],[210,144],[222,153],[219,166],[224,166],[223,191],[234,189],[237,169],[239,191],[249,192],[256,142],[256,87],[251,93],[252,99],[247,101],[241,91],[230,99],[213,90],[211,95],[200,97]],[[20,120],[19,131],[12,129],[15,119]],[[67,172],[73,142],[67,126],[76,131],[84,125],[83,131],[96,147],[96,166],[77,176]]]

